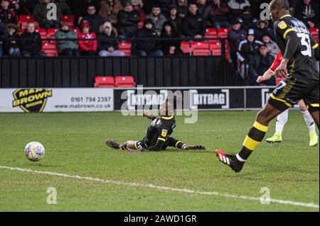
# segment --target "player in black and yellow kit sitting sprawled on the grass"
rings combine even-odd
[[[176,119],[174,117],[174,103],[173,99],[167,99],[161,103],[159,108],[159,117],[144,113],[146,118],[152,120],[146,132],[146,137],[140,141],[129,140],[120,144],[112,140],[107,140],[106,144],[114,149],[122,149],[127,152],[148,152],[148,151],[162,151],[166,147],[176,147],[178,149],[196,150],[206,149],[203,145],[186,145],[181,140],[171,137],[174,128],[176,128]]]

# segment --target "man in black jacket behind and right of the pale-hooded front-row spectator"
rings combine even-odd
[[[141,20],[139,11],[134,10],[132,1],[124,2],[124,9],[118,13],[119,38],[134,38]]]

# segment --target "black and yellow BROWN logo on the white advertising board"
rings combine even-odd
[[[48,89],[17,89],[14,91],[14,108],[20,107],[24,112],[43,112],[47,99],[52,96]]]

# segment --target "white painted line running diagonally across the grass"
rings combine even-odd
[[[218,193],[215,191],[195,191],[195,190],[186,189],[186,188],[171,188],[171,187],[166,187],[166,186],[158,186],[158,185],[154,185],[151,183],[131,183],[131,182],[124,182],[124,181],[114,181],[114,180],[109,180],[109,179],[98,179],[98,178],[92,178],[92,177],[88,177],[88,176],[60,174],[60,173],[49,172],[49,171],[36,171],[36,170],[32,170],[32,169],[23,169],[23,168],[10,167],[10,166],[0,166],[0,169],[9,169],[9,170],[13,170],[13,171],[23,171],[23,172],[33,173],[33,174],[44,174],[44,175],[50,175],[50,176],[63,176],[63,177],[71,178],[71,179],[80,179],[80,180],[85,180],[85,181],[97,181],[97,182],[101,182],[101,183],[113,183],[113,184],[118,184],[118,185],[123,185],[123,186],[154,188],[154,189],[161,190],[161,191],[177,191],[177,192],[181,192],[181,193],[194,193],[194,194],[200,194],[200,195],[206,195],[206,196],[222,196],[222,197],[226,197],[226,198],[260,201],[260,198],[251,197],[251,196],[237,196],[237,195],[232,195],[232,194],[228,194],[228,193]],[[304,207],[319,209],[319,205],[316,205],[314,203],[301,203],[301,202],[296,202],[296,201],[291,201],[291,200],[280,200],[280,199],[270,199],[270,202],[284,204],[284,205],[297,205],[297,206],[304,206]]]

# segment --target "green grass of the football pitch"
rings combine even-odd
[[[144,137],[150,121],[120,113],[0,114],[0,166],[21,167],[116,181],[152,183],[196,191],[216,191],[319,205],[319,147],[309,147],[302,114],[289,113],[281,145],[262,142],[240,174],[216,159],[217,148],[238,152],[256,112],[201,112],[198,123],[177,118],[173,136],[203,144],[204,152],[129,154],[109,149],[107,138],[124,142]],[[274,132],[274,122],[267,137]],[[43,143],[46,157],[30,162],[25,145]],[[48,187],[58,193],[48,205]],[[319,211],[295,205],[223,196],[206,196],[153,188],[69,179],[0,169],[0,211]]]

